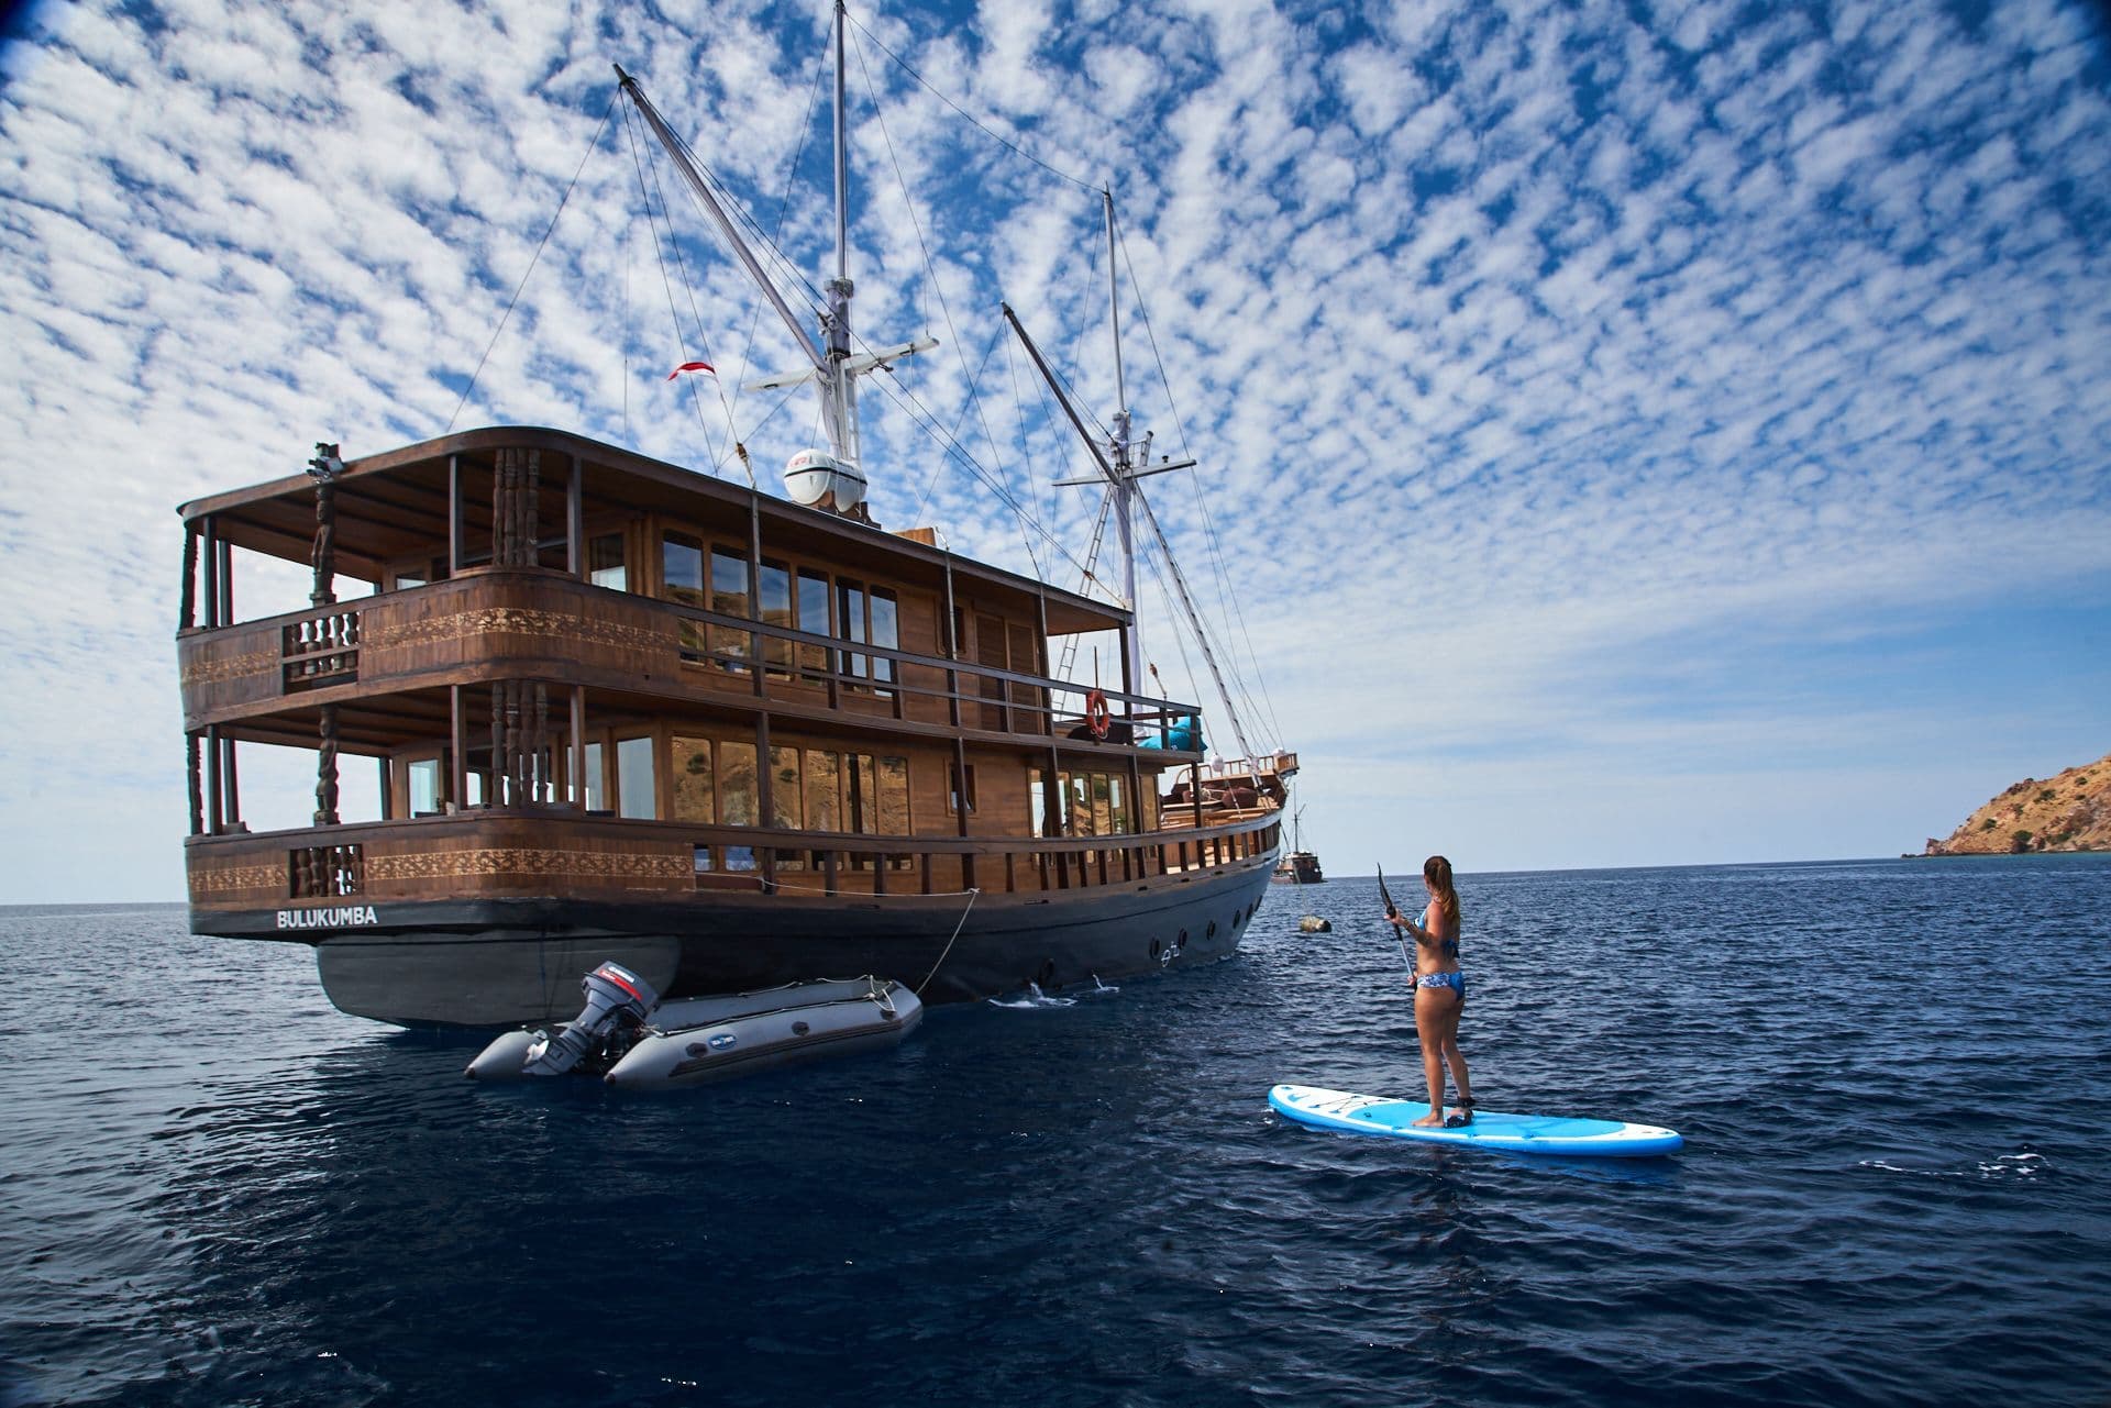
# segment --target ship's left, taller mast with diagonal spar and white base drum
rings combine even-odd
[[[644,116],[646,127],[665,148],[667,158],[673,163],[676,171],[703,203],[705,211],[711,215],[711,224],[718,226],[720,239],[747,270],[747,277],[756,283],[762,296],[777,308],[777,317],[783,319],[785,327],[792,329],[792,338],[798,342],[800,350],[806,353],[809,367],[800,372],[787,372],[781,376],[766,376],[754,382],[745,382],[743,391],[775,391],[783,386],[798,386],[802,382],[813,382],[821,397],[821,429],[828,435],[828,452],[802,450],[792,456],[785,464],[785,483],[792,496],[811,507],[832,507],[838,513],[851,513],[863,498],[866,473],[863,454],[859,445],[857,431],[857,378],[887,367],[904,357],[914,357],[916,353],[927,353],[937,346],[937,338],[914,338],[910,342],[899,342],[895,346],[853,355],[851,346],[855,342],[851,334],[851,148],[847,141],[847,101],[844,101],[844,8],[842,0],[836,0],[836,277],[828,281],[828,308],[815,310],[821,325],[821,340],[815,340],[806,331],[806,325],[792,312],[783,293],[762,270],[762,262],[756,260],[747,241],[741,239],[739,228],[726,213],[711,184],[703,179],[697,165],[688,156],[688,148],[680,137],[667,127],[659,110],[646,99],[644,89],[638,80],[616,65],[616,78],[623,84],[623,93],[638,106],[640,116]]]

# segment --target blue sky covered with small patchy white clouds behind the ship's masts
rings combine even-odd
[[[868,395],[880,519],[1077,583],[1096,502],[1049,488],[1079,460],[1013,397],[996,304],[1112,410],[1098,201],[1049,167],[1112,182],[1131,403],[1203,462],[1153,502],[1330,872],[1894,855],[2111,749],[2100,8],[853,17],[857,327],[944,342]],[[623,131],[593,144],[610,63],[817,283],[825,8],[46,4],[8,34],[0,899],[173,899],[173,507],[450,422],[711,469],[724,410],[665,369],[798,357],[692,211],[642,209]],[[733,420],[777,492],[809,405]],[[1214,713],[1148,583],[1150,654]],[[245,758],[251,815],[272,766]]]

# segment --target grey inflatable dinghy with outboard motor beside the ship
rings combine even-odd
[[[597,1074],[623,1089],[676,1089],[773,1066],[897,1045],[923,1022],[889,977],[823,977],[671,1003],[604,963],[581,979],[587,1007],[557,1030],[507,1032],[464,1072],[473,1081]]]

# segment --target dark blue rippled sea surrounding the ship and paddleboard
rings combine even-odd
[[[1484,1108],[1682,1155],[1279,1121],[1419,1093],[1370,880],[665,1098],[473,1085],[179,908],[0,910],[0,1404],[2107,1402],[2111,857],[1461,893]]]

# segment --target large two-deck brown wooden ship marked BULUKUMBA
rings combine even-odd
[[[918,344],[855,353],[840,270],[828,298],[813,338],[771,291],[830,435],[790,498],[490,426],[184,505],[192,931],[312,946],[331,1003],[405,1026],[559,1020],[602,960],[671,998],[878,973],[948,1003],[1229,954],[1294,754],[1207,768],[1129,606],[872,521],[855,378]],[[308,604],[243,619],[236,553],[308,564]],[[1117,686],[1051,673],[1070,635]],[[245,825],[241,743],[312,749],[310,825]],[[348,766],[378,819],[342,819]]]

